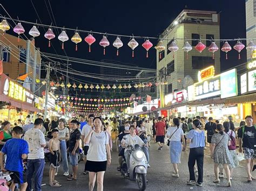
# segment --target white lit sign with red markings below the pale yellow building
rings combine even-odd
[[[188,101],[187,90],[176,91],[165,96],[165,106]]]

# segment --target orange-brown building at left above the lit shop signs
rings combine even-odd
[[[0,38],[0,48],[3,73],[15,80],[21,75],[29,74],[23,86],[35,92],[39,86],[36,79],[41,78],[41,55],[35,47],[35,40],[18,40],[17,37],[5,33]]]

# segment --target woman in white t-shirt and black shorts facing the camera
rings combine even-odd
[[[85,137],[84,143],[89,144],[86,171],[89,172],[89,190],[92,191],[95,186],[97,175],[97,190],[103,190],[104,173],[106,165],[111,163],[111,154],[109,146],[109,135],[102,131],[102,118],[93,119],[95,130],[91,130]]]

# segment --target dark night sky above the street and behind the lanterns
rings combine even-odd
[[[58,26],[108,32],[114,34],[126,34],[134,36],[158,37],[164,29],[173,22],[174,18],[187,6],[187,9],[212,10],[220,13],[220,37],[221,39],[245,38],[245,1],[241,0],[180,0],[180,1],[53,1],[53,0],[3,0],[4,8],[12,18],[35,22],[37,18],[31,1],[35,4],[36,10],[43,24],[51,24],[51,19],[46,9],[49,8],[49,1]],[[50,9],[50,8],[49,8]],[[1,9],[2,15],[6,15]],[[38,21],[39,23],[39,21]],[[26,34],[32,25],[25,25]],[[39,27],[41,34],[44,34],[42,27]],[[56,32],[55,32],[56,33]],[[71,38],[72,31],[68,31]],[[87,33],[80,33],[82,38]],[[29,35],[28,35],[29,36]],[[131,58],[131,49],[127,46],[129,38],[122,38],[124,47],[120,49],[120,55],[116,56],[116,49],[112,46],[116,37],[108,37],[111,46],[106,48],[106,55],[103,56],[103,48],[98,45],[101,35],[95,35],[96,43],[92,45],[92,53],[88,53],[88,46],[83,41],[78,45],[78,52],[75,52],[75,44],[71,41],[65,44],[69,56],[89,60],[116,60],[128,62],[139,67],[156,68],[156,52],[152,48],[150,58],[145,58],[145,50],[141,46],[144,39],[138,39],[139,47],[136,48],[134,59]],[[58,54],[64,55],[60,48],[57,36],[52,40]],[[156,45],[156,41],[152,41]],[[235,43],[232,42],[231,46]],[[246,44],[246,42],[244,42]],[[222,45],[222,44],[221,44]],[[36,39],[36,46],[43,52],[55,53],[53,48],[48,48],[48,40],[43,35]],[[225,54],[221,54],[221,70],[228,69],[246,61],[246,51],[242,51],[242,59],[238,60],[238,54],[232,50],[229,59],[225,60]],[[93,71],[98,73],[98,68],[88,67],[73,63],[72,68],[84,72]]]

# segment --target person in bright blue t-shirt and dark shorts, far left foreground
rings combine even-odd
[[[2,148],[0,155],[0,165],[2,171],[11,171],[11,190],[15,190],[15,184],[21,184],[21,191],[25,191],[28,183],[26,182],[26,174],[23,169],[23,159],[26,159],[29,153],[29,145],[21,137],[23,129],[15,126],[12,129],[12,139],[8,140]],[[6,154],[6,163],[3,164],[3,158]]]

